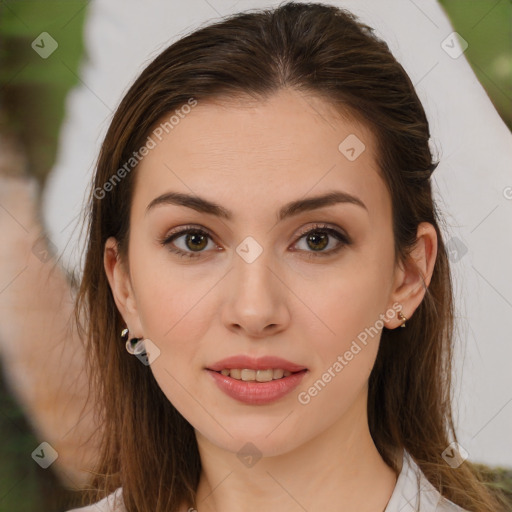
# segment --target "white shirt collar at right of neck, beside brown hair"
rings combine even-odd
[[[400,475],[384,512],[468,512],[442,496],[404,450]]]

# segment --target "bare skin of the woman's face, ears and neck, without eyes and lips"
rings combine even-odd
[[[366,146],[354,161],[338,150],[350,134]],[[437,251],[430,224],[419,226],[410,260],[395,265],[391,198],[375,147],[371,132],[335,116],[324,100],[284,89],[266,102],[199,102],[137,169],[129,263],[110,238],[105,269],[131,335],[160,349],[149,368],[195,429],[199,512],[270,503],[284,512],[340,504],[380,512],[391,497],[397,475],[373,443],[366,412],[380,332],[307,405],[297,400],[393,304],[410,318],[425,293],[422,276],[430,282]],[[171,190],[213,200],[233,219],[169,204],[145,214]],[[366,209],[336,204],[276,222],[285,203],[332,190],[357,196]],[[351,244],[315,256],[318,242],[300,238],[315,222],[346,233]],[[189,224],[212,234],[198,258],[158,242]],[[250,264],[236,252],[247,236],[263,248]],[[185,241],[174,244],[194,252]],[[337,245],[330,237],[323,251]],[[384,325],[401,323],[394,316]],[[239,403],[205,370],[235,354],[277,355],[309,373],[277,402]],[[252,467],[237,457],[247,442],[262,455]]]

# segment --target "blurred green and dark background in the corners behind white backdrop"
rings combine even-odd
[[[64,100],[78,83],[88,1],[0,0],[0,132],[22,143],[29,172],[44,186],[55,160]],[[512,128],[512,4],[510,0],[443,0],[465,52],[496,109]],[[41,33],[58,42],[55,58],[31,48]],[[0,512],[61,512],[76,504],[51,470],[30,457],[39,445],[0,375]],[[512,471],[493,468],[487,480],[507,490]],[[73,503],[73,501],[75,503]],[[512,506],[512,505],[511,505]]]

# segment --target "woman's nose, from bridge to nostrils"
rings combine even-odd
[[[233,268],[224,283],[228,298],[221,315],[229,330],[258,339],[288,327],[290,292],[283,276],[269,264],[267,251],[251,263],[234,256]]]

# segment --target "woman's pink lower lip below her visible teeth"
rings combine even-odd
[[[213,370],[206,371],[215,379],[217,386],[226,395],[249,405],[269,404],[279,400],[293,391],[307,372],[307,370],[302,370],[292,373],[288,377],[269,382],[245,382],[227,377]]]

